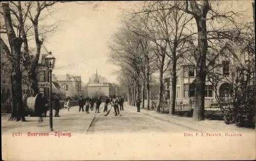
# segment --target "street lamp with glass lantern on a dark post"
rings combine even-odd
[[[50,99],[51,99],[51,109],[50,109],[50,128],[53,131],[53,123],[52,123],[52,69],[54,68],[55,58],[52,56],[52,52],[49,52],[49,55],[46,56],[46,66],[50,72]]]

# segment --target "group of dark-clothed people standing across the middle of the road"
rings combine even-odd
[[[120,115],[120,111],[123,111],[123,102],[124,99],[119,96],[116,97],[116,95],[113,96],[113,99],[110,99],[108,96],[105,96],[104,98],[104,110],[103,112],[107,112],[108,111],[108,105],[111,104],[114,106],[114,110],[115,110],[115,115]],[[83,107],[84,105],[86,106],[86,113],[89,114],[89,108],[91,109],[91,111],[94,110],[94,106],[95,108],[95,113],[99,113],[99,107],[101,105],[102,101],[101,101],[101,97],[98,97],[96,100],[91,97],[91,98],[82,98],[80,97],[78,104],[79,104],[79,112],[82,110],[82,112],[84,112]],[[119,111],[119,106],[120,106],[120,111]]]

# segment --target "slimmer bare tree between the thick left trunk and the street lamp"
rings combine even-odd
[[[44,43],[44,41],[47,39],[47,37],[51,36],[58,27],[58,22],[46,25],[42,24],[42,21],[44,21],[48,16],[53,14],[56,10],[52,9],[52,7],[57,3],[68,3],[72,1],[36,1],[36,2],[10,2],[11,4],[11,14],[14,15],[14,17],[21,21],[22,23],[16,24],[15,21],[13,22],[13,26],[15,28],[20,28],[20,33],[23,36],[24,39],[24,60],[29,59],[30,50],[28,41],[31,40],[30,37],[34,37],[35,43],[36,43],[36,50],[35,50],[35,57],[30,66],[27,66],[28,74],[29,74],[29,81],[31,83],[31,88],[33,90],[33,95],[35,96],[38,94],[38,80],[36,78],[36,67],[39,61],[40,57],[40,50],[41,45]],[[78,3],[78,2],[75,2]],[[78,4],[86,4],[88,2],[84,3],[78,3]],[[23,9],[22,9],[23,6]],[[48,14],[44,14],[44,11],[48,11]],[[23,18],[25,17],[25,18]],[[28,18],[27,18],[28,17]],[[27,19],[30,20],[30,22],[27,21]],[[41,24],[40,24],[41,23]]]

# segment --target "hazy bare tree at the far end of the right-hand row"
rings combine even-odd
[[[119,67],[125,67],[130,70],[134,76],[136,84],[137,96],[140,97],[141,83],[145,80],[145,55],[148,54],[148,42],[143,41],[133,32],[123,28],[120,32],[114,35],[113,44],[110,45],[110,58],[114,64]],[[145,54],[143,54],[145,53]],[[143,56],[144,55],[144,56]],[[149,57],[148,57],[149,58]],[[150,63],[150,60],[148,60]],[[148,65],[149,66],[149,65]],[[148,68],[150,70],[150,68]],[[135,92],[134,92],[135,93]],[[133,95],[135,102],[135,96]]]

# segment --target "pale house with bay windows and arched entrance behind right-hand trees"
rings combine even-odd
[[[236,52],[233,48],[226,47],[223,51],[225,54],[219,56],[214,65],[208,67],[208,74],[205,82],[205,107],[217,106],[216,94],[219,97],[226,97],[230,91],[231,81],[231,66],[234,64],[246,64],[248,62],[248,55]],[[211,60],[211,59],[208,59]],[[208,64],[209,62],[207,62]],[[189,61],[179,59],[177,62],[177,85],[176,85],[176,104],[194,104],[195,91],[196,91],[196,63],[193,58]],[[215,90],[212,84],[210,75],[216,74],[222,76]],[[164,97],[170,98],[172,90],[172,79],[170,78],[170,70],[164,73]]]

